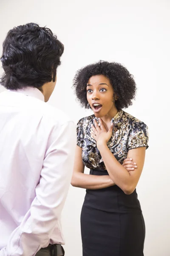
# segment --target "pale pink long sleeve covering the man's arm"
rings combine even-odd
[[[0,256],[34,256],[41,247],[48,246],[71,182],[75,145],[73,122],[51,131],[36,197],[7,246],[0,250]]]

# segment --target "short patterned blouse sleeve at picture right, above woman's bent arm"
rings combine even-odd
[[[135,122],[127,141],[127,149],[146,147],[148,148],[148,127],[143,122]]]

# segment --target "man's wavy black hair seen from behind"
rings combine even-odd
[[[1,57],[5,73],[0,83],[7,89],[42,87],[56,79],[56,70],[64,51],[52,31],[36,23],[9,30]]]

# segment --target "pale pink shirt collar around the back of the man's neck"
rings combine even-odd
[[[44,102],[44,95],[35,87],[25,87],[23,89],[10,90],[17,93],[23,93],[26,96],[31,96],[37,99],[40,99]]]

